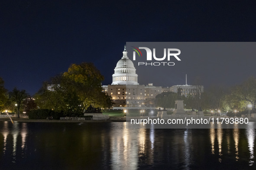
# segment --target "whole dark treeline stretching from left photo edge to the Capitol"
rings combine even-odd
[[[31,110],[54,110],[64,116],[80,116],[87,107],[109,108],[110,96],[104,93],[101,82],[104,77],[93,63],[71,64],[67,72],[44,82],[33,96],[25,90],[8,91],[0,78],[1,113],[28,113]],[[47,112],[51,113],[51,112]]]

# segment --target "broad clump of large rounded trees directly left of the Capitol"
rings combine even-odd
[[[92,63],[72,64],[67,72],[45,82],[34,96],[41,109],[79,115],[92,107],[111,107],[110,96],[102,92],[104,77]]]

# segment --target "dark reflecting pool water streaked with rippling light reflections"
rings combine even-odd
[[[255,167],[255,135],[255,129],[126,129],[126,123],[0,122],[0,167],[198,169],[235,165],[234,169],[247,169]],[[27,164],[28,160],[33,161]]]

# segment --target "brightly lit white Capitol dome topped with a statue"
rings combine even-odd
[[[124,46],[123,57],[117,62],[114,71],[111,85],[139,85],[136,69],[132,60],[127,56],[126,45]]]

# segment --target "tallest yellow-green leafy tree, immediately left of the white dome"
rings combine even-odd
[[[101,82],[104,76],[93,63],[72,64],[64,72],[65,85],[74,90],[83,103],[83,107],[110,107],[110,96],[102,92]],[[107,101],[107,102],[105,102]]]

